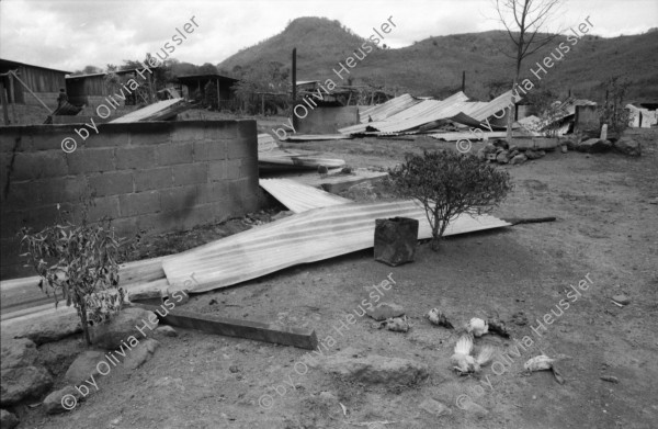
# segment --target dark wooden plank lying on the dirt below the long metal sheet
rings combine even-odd
[[[164,313],[163,308],[145,304],[133,304],[136,307],[156,313]],[[318,339],[313,329],[294,327],[280,327],[252,320],[230,319],[211,314],[198,314],[182,309],[171,309],[160,320],[167,325],[179,328],[197,329],[208,334],[217,334],[227,337],[246,338],[256,341],[272,342],[275,345],[294,346],[300,349],[313,350],[318,347]]]

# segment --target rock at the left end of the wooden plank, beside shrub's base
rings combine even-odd
[[[122,346],[122,341],[127,341],[131,336],[143,338],[138,328],[148,336],[151,330],[145,327],[146,324],[155,329],[158,316],[144,308],[124,308],[107,323],[90,328],[91,342],[103,349],[116,350]]]

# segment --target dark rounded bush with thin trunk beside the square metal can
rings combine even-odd
[[[454,151],[407,155],[389,174],[397,195],[413,197],[424,206],[432,227],[432,250],[439,249],[451,221],[463,213],[489,213],[512,189],[507,171]]]

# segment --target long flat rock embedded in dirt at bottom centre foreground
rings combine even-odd
[[[378,354],[359,357],[359,353],[352,348],[347,348],[320,360],[309,360],[307,363],[351,382],[410,385],[429,375],[428,365],[424,363]]]

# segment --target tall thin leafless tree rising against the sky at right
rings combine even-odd
[[[557,12],[560,0],[496,0],[496,11],[502,25],[508,32],[513,54],[507,54],[515,60],[514,81],[512,90],[519,84],[521,64],[523,59],[546,46],[558,36],[559,32],[549,33],[546,30],[548,20]],[[543,31],[543,33],[541,33]],[[508,111],[507,139],[512,138],[513,103]]]

